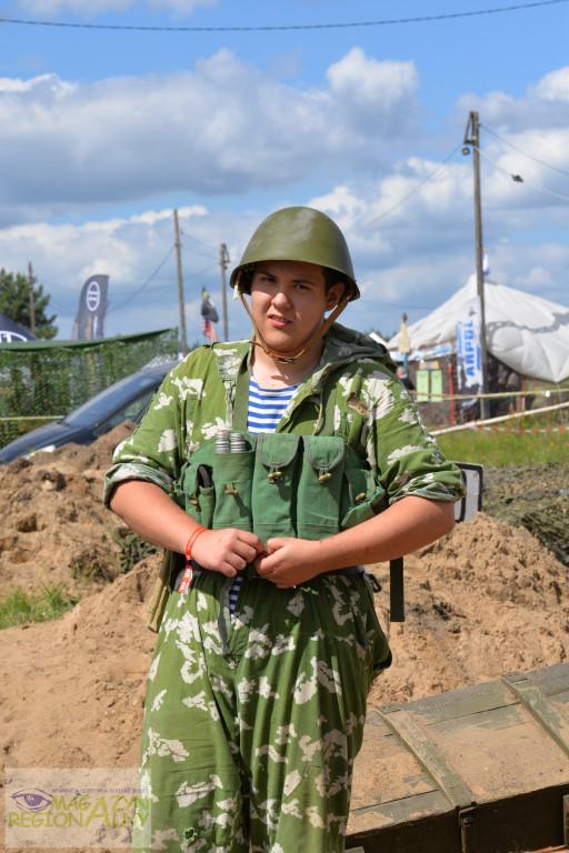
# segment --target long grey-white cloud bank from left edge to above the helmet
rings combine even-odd
[[[352,84],[362,96],[348,107]],[[168,76],[12,81],[0,88],[1,215],[9,223],[33,205],[44,217],[41,205],[57,212],[158,191],[243,194],[291,187],[315,170],[377,168],[378,133],[386,151],[400,144],[408,120],[393,129],[389,117],[411,113],[413,98],[408,63],[369,61],[360,50],[332,67],[322,89],[268,79],[226,49]]]

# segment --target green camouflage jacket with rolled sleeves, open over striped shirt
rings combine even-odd
[[[413,494],[436,501],[463,495],[459,469],[425,429],[386,349],[335,323],[321,359],[299,384],[277,431],[318,434],[335,394],[333,434],[367,460],[389,503]],[[114,451],[104,502],[123,480],[146,480],[167,492],[203,442],[232,425],[238,375],[248,389],[250,341],[211,343],[191,352],[164,379],[133,434]],[[329,430],[329,434],[332,430]]]

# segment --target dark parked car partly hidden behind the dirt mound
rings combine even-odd
[[[122,421],[139,423],[152,394],[178,362],[142,368],[74,409],[59,421],[31,430],[0,449],[0,462],[29,456],[39,450],[51,451],[62,444],[91,444]]]

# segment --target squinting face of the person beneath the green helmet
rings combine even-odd
[[[251,282],[251,312],[263,340],[277,352],[295,352],[320,328],[343,285],[326,293],[322,268],[302,261],[259,261]]]

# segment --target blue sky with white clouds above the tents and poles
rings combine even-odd
[[[343,321],[389,337],[473,272],[478,110],[490,278],[567,305],[569,2],[477,14],[515,4],[0,2],[0,19],[80,24],[0,24],[0,265],[32,262],[60,338],[94,273],[107,334],[174,325],[177,208],[191,342],[202,285],[221,305],[220,243],[237,263],[271,210],[311,204],[351,248],[362,299]],[[238,303],[228,319],[249,333]]]

